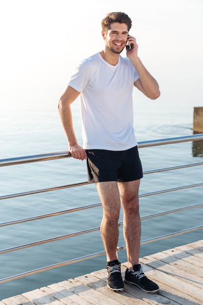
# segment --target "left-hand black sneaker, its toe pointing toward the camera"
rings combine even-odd
[[[121,276],[121,263],[118,260],[107,262],[107,286],[113,291],[123,291],[124,284]]]

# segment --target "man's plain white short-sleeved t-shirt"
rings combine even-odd
[[[83,148],[124,151],[137,145],[132,90],[139,78],[129,58],[117,65],[100,53],[80,62],[69,86],[80,92]]]

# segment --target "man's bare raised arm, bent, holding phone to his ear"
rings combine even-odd
[[[159,84],[156,79],[150,75],[140,58],[137,56],[138,45],[136,39],[129,36],[128,41],[132,48],[130,51],[127,51],[127,57],[129,57],[139,75],[139,78],[134,82],[134,86],[150,99],[158,98],[160,96]]]

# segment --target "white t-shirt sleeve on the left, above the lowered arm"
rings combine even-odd
[[[92,76],[90,63],[84,59],[75,68],[74,73],[68,81],[68,85],[78,92],[82,92],[89,83]]]

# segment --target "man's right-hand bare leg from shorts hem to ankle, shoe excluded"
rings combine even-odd
[[[127,247],[129,270],[133,270],[133,266],[139,264],[141,235],[139,186],[140,180],[118,183],[124,211],[123,231]]]

